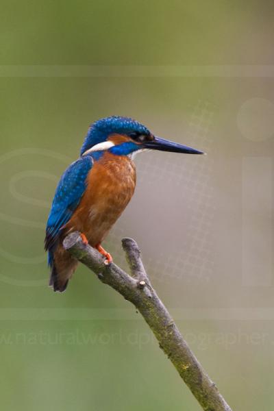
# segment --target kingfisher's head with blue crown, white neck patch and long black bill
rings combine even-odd
[[[116,155],[130,155],[143,150],[174,153],[203,154],[203,151],[154,136],[145,125],[120,116],[107,117],[93,123],[82,145],[81,155],[95,151],[110,151]]]

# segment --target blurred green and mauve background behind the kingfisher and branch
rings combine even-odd
[[[271,1],[1,1],[3,410],[199,410],[132,306],[43,251],[88,125],[133,116],[208,152],[137,158],[105,242],[136,238],[153,284],[233,410],[273,408]]]

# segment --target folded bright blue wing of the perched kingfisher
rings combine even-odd
[[[84,195],[86,178],[92,169],[92,164],[93,160],[90,156],[79,158],[66,169],[56,188],[45,238],[45,249],[49,250],[49,264],[51,264],[52,251],[62,232],[62,227],[71,219]]]

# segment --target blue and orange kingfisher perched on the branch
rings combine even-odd
[[[105,117],[88,128],[79,158],[58,183],[47,221],[45,250],[54,291],[66,290],[77,268],[77,260],[62,246],[71,232],[80,232],[83,242],[104,256],[105,264],[112,263],[101,243],[134,195],[133,157],[147,150],[204,154],[155,136],[129,117]]]

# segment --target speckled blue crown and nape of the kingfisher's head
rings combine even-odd
[[[108,139],[110,134],[130,134],[137,132],[149,134],[149,129],[129,117],[111,116],[95,121],[88,129],[88,134],[82,145],[81,155],[94,145]]]

